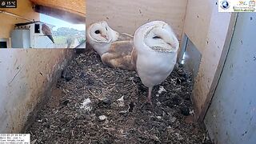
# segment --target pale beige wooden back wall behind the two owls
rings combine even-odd
[[[105,20],[118,32],[134,34],[153,20],[166,21],[181,39],[187,0],[87,0],[86,23]]]

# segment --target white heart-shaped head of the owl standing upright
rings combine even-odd
[[[166,22],[146,23],[139,27],[134,34],[134,46],[138,50],[174,53],[178,50],[178,45],[178,39]]]

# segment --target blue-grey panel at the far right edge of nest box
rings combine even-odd
[[[230,50],[204,122],[215,144],[256,142],[256,13],[238,13]]]

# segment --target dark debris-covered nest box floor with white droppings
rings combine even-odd
[[[27,133],[36,143],[211,143],[190,101],[190,74],[175,67],[154,86],[153,106],[138,74],[78,54]]]

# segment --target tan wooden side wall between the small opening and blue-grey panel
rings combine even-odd
[[[218,1],[188,1],[184,33],[202,54],[192,96],[201,120],[217,86],[233,27],[234,14],[218,13]]]

